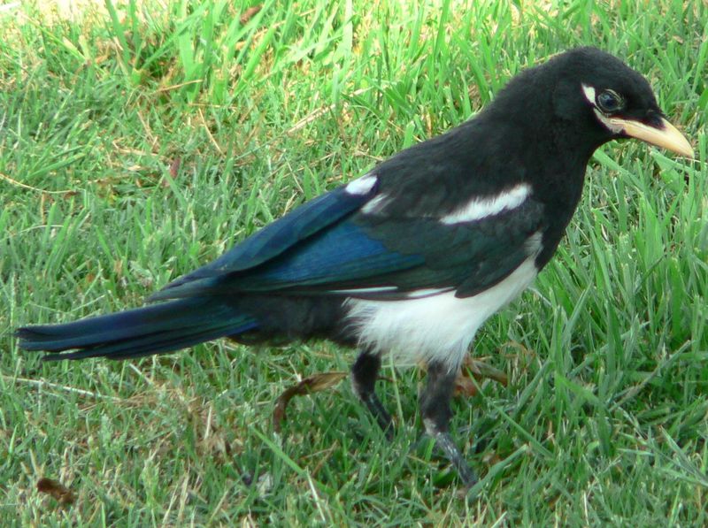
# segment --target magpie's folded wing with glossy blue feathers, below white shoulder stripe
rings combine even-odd
[[[495,285],[537,251],[530,241],[543,228],[543,206],[531,198],[444,223],[372,214],[365,206],[376,189],[359,195],[346,188],[280,218],[153,300],[242,293],[398,299],[453,289],[462,297]]]

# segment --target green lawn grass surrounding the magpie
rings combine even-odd
[[[256,6],[0,6],[0,524],[708,524],[705,4]],[[643,72],[700,161],[596,153],[558,255],[476,341],[510,380],[455,403],[478,501],[414,448],[416,371],[385,372],[388,444],[346,383],[273,432],[286,387],[348,368],[327,343],[130,363],[16,348],[17,325],[139,305],[580,44]]]

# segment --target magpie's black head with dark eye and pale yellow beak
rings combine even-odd
[[[572,121],[595,147],[635,138],[693,157],[689,142],[658,107],[649,82],[618,58],[579,48],[550,59],[542,69],[546,82],[555,80],[550,89],[556,117]]]

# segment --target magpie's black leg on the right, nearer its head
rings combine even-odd
[[[449,431],[452,416],[450,398],[456,377],[457,373],[450,372],[442,363],[427,365],[427,386],[420,394],[420,414],[427,434],[435,440],[435,446],[443,451],[465,486],[472,487],[477,482],[477,476],[452,441]]]

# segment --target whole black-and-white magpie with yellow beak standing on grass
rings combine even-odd
[[[358,349],[353,392],[390,437],[375,391],[384,356],[423,364],[425,433],[467,488],[450,432],[475,333],[548,264],[593,152],[635,138],[693,157],[649,82],[593,47],[517,74],[461,125],[419,142],[173,280],[149,304],[16,331],[43,359],[129,359],[230,338],[325,339]]]

